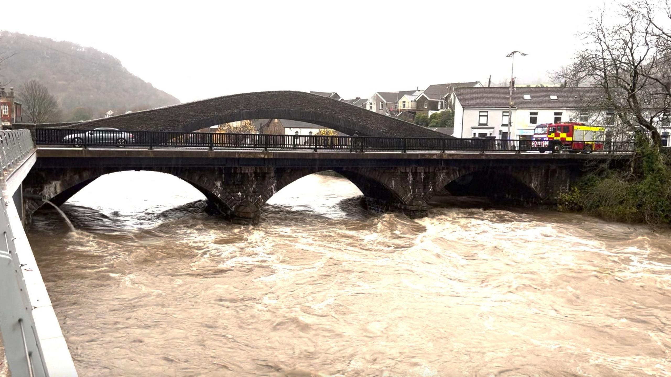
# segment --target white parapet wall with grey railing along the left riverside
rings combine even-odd
[[[35,161],[30,131],[0,131],[0,333],[12,377],[76,376],[19,216]]]

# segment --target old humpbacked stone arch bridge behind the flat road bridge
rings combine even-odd
[[[448,138],[395,117],[343,101],[296,91],[243,93],[68,124],[64,128],[114,127],[139,131],[197,131],[247,119],[290,119],[348,135]]]

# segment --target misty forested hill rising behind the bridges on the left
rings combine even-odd
[[[0,83],[10,81],[7,87],[17,90],[26,80],[39,80],[56,97],[64,121],[179,103],[95,48],[0,32],[0,53],[13,54],[0,66]]]

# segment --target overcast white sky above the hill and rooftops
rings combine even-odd
[[[370,97],[455,81],[546,82],[604,0],[12,1],[1,30],[119,58],[181,101],[252,91]],[[8,7],[9,6],[9,7]]]

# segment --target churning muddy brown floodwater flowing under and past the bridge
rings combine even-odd
[[[311,175],[235,225],[122,172],[28,236],[80,376],[671,376],[670,232],[358,195]]]

